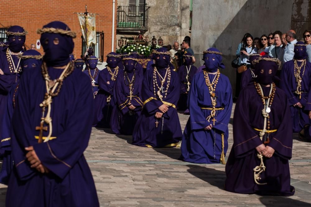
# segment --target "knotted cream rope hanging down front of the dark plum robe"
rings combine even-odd
[[[260,84],[258,84],[259,88],[260,88],[260,92],[263,95],[263,90]],[[270,92],[269,92],[269,98],[267,100],[267,103],[270,103],[270,95],[272,93],[272,89],[273,89],[273,84],[271,84],[270,86]],[[266,105],[266,104],[264,104]],[[261,111],[262,116],[264,117],[264,121],[263,121],[263,130],[259,132],[259,138],[260,140],[262,140],[262,137],[265,135],[265,133],[267,132],[267,117],[269,116],[269,113],[266,112],[265,110],[266,107],[264,107]],[[260,174],[266,170],[266,166],[263,163],[263,156],[262,154],[257,154],[258,159],[260,160],[260,165],[256,166],[253,170],[254,170],[254,181],[257,185],[266,185],[267,183],[259,183],[258,181],[261,179]]]

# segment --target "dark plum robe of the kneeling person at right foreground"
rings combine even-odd
[[[265,96],[269,95],[270,87],[262,87]],[[244,88],[236,103],[233,120],[233,146],[226,164],[225,190],[235,193],[259,193],[272,195],[293,195],[290,186],[290,169],[288,160],[292,156],[292,126],[289,104],[283,90],[276,88],[271,106],[270,130],[277,129],[269,135],[266,144],[275,152],[271,158],[263,158],[266,171],[261,173],[260,183],[254,181],[253,169],[260,164],[256,147],[263,144],[259,131],[263,129],[262,99],[254,85]]]

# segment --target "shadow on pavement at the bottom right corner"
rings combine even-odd
[[[267,207],[275,207],[275,206],[308,206],[310,207],[310,203],[306,203],[299,200],[291,199],[290,197],[284,196],[264,196],[259,198],[260,202]]]

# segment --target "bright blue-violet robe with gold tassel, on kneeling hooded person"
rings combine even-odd
[[[208,74],[213,80],[215,74]],[[181,142],[181,159],[190,163],[220,163],[222,153],[222,134],[224,136],[224,154],[228,150],[228,124],[232,110],[232,89],[227,76],[220,74],[215,94],[216,110],[215,125],[207,117],[212,108],[209,89],[205,83],[204,73],[194,76],[188,97],[190,117],[183,132]],[[212,118],[211,118],[212,119]],[[212,124],[212,130],[204,130]]]

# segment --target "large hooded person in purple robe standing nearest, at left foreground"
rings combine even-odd
[[[59,21],[37,33],[45,55],[41,69],[21,77],[6,206],[99,206],[83,155],[94,114],[91,84],[69,59],[76,34]]]

